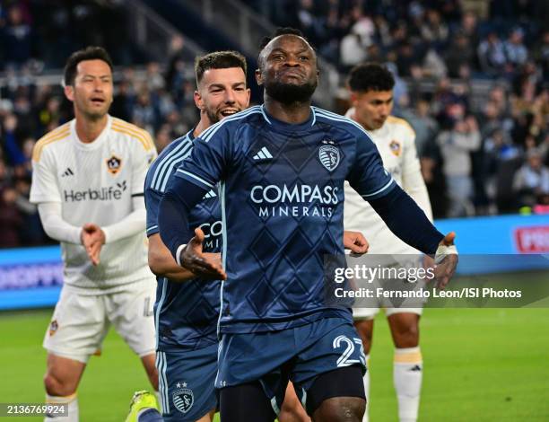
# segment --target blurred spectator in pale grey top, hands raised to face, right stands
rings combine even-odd
[[[444,164],[449,195],[449,216],[473,215],[473,180],[470,153],[481,145],[475,118],[456,119],[453,127],[443,130],[437,138]]]

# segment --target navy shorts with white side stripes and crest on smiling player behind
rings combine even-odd
[[[189,352],[156,352],[164,421],[194,422],[218,407],[213,385],[217,350],[212,345]]]

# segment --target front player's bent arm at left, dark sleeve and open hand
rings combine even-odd
[[[162,242],[179,266],[191,270],[198,277],[225,279],[222,266],[214,259],[208,259],[202,251],[202,230],[196,229],[193,236],[188,228],[191,209],[208,190],[188,180],[172,178],[169,189],[161,199],[158,225]]]

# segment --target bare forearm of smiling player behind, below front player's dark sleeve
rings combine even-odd
[[[214,259],[221,263],[221,254],[205,253],[208,259]],[[196,277],[196,275],[187,268],[179,267],[173,259],[170,250],[162,242],[160,234],[154,233],[149,236],[149,267],[158,277],[170,278],[170,281],[187,281]]]

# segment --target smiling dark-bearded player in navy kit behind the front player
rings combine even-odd
[[[213,417],[217,405],[214,376],[221,283],[196,278],[189,270],[179,267],[161,241],[158,206],[170,175],[191,153],[195,136],[213,123],[248,108],[249,102],[246,59],[240,53],[217,51],[197,57],[195,71],[195,101],[200,120],[185,136],[162,151],[145,180],[149,265],[158,277],[154,309],[157,365],[163,417],[167,421],[209,421]],[[212,259],[219,259],[222,245],[222,215],[217,195],[217,189],[208,191],[193,209],[190,222],[191,227],[200,227],[205,233],[205,251]],[[365,251],[367,242],[360,233],[346,232],[345,235],[345,244],[350,249]],[[144,395],[144,391],[139,391],[135,399],[143,401]],[[144,403],[148,407],[148,401]],[[300,408],[297,399],[287,398],[283,409],[285,420],[306,420],[307,415]],[[143,422],[144,418],[138,420]]]

